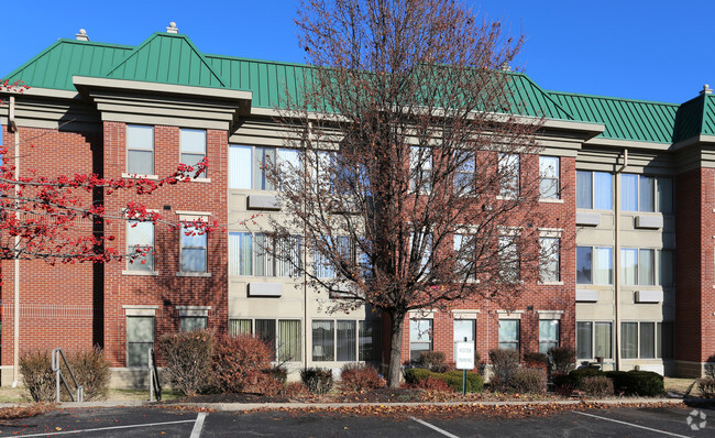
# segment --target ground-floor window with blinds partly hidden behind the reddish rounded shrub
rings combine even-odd
[[[274,349],[274,360],[301,360],[300,320],[298,319],[229,319],[230,336],[255,336]]]

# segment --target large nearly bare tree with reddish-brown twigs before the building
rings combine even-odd
[[[521,40],[452,0],[305,1],[296,23],[311,68],[271,227],[304,236],[327,306],[388,317],[395,387],[410,310],[512,308],[539,275],[541,120],[503,68]]]

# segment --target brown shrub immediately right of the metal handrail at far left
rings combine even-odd
[[[112,372],[105,352],[99,347],[70,353],[67,362],[77,377],[77,383],[82,386],[85,402],[107,398]]]

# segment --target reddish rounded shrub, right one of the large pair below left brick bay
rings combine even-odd
[[[273,349],[250,335],[222,336],[213,347],[213,383],[221,392],[263,392],[264,370],[271,366]],[[271,379],[273,380],[273,379]]]

